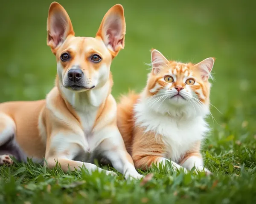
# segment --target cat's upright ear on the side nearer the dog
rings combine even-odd
[[[151,50],[151,65],[152,73],[157,74],[163,68],[163,66],[168,65],[169,61],[163,56],[160,51],[156,49]]]

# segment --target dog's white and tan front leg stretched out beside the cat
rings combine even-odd
[[[99,134],[103,134],[105,138],[99,145],[99,151],[111,161],[113,167],[124,174],[126,179],[143,178],[143,175],[136,171],[117,127],[105,127]]]

